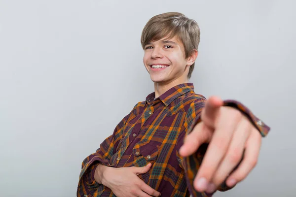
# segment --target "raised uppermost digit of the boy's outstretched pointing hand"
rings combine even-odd
[[[215,122],[222,105],[223,100],[219,97],[212,96],[206,101],[205,108],[201,112],[201,120],[206,126],[215,129]]]

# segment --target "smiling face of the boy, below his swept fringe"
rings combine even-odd
[[[144,65],[153,82],[159,85],[181,84],[187,82],[192,58],[185,58],[183,43],[173,37],[148,43],[144,47]]]

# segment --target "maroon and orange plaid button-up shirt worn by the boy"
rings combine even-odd
[[[98,164],[111,167],[152,166],[139,177],[163,197],[210,197],[193,189],[193,180],[205,154],[206,145],[186,158],[178,150],[184,137],[200,121],[205,98],[195,94],[192,83],[180,84],[154,99],[148,95],[145,101],[135,105],[133,110],[116,126],[96,153],[82,163],[77,197],[114,197],[112,191],[94,180],[94,169]],[[244,113],[258,128],[262,136],[269,131],[245,106],[234,100],[225,100]],[[219,188],[226,191],[225,184]],[[190,192],[190,194],[189,194]]]

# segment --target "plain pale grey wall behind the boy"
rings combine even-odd
[[[0,196],[75,196],[83,159],[153,92],[140,36],[168,11],[200,25],[195,91],[238,99],[272,128],[248,178],[216,196],[296,196],[295,6],[0,0]]]

